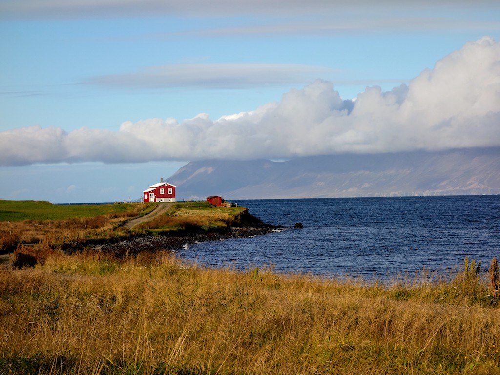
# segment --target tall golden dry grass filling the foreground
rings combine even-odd
[[[0,272],[0,374],[500,373],[500,310],[468,270],[382,287],[54,253]]]

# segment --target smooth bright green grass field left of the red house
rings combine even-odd
[[[52,204],[44,200],[0,200],[0,221],[64,220],[131,211],[134,203]]]

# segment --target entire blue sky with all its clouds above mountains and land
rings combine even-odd
[[[0,0],[0,34],[4,199],[134,199],[193,159],[500,145],[498,1]]]

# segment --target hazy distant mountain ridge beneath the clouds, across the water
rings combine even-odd
[[[177,200],[500,194],[500,147],[192,161],[168,182]]]

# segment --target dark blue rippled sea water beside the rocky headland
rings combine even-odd
[[[264,222],[303,229],[203,242],[179,251],[213,267],[394,277],[446,273],[467,256],[500,258],[500,195],[238,200]]]

